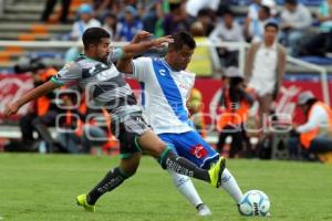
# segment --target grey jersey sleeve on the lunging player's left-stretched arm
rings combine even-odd
[[[82,78],[82,69],[76,63],[68,63],[51,81],[58,85],[75,84]]]

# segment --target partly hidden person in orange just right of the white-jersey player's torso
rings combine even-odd
[[[204,118],[204,103],[203,95],[199,90],[193,88],[190,91],[187,108],[190,114],[190,120],[194,124],[193,127],[200,134],[201,137],[205,138],[206,124]]]

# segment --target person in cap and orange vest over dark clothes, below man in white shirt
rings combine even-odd
[[[225,86],[219,98],[220,115],[217,122],[217,130],[219,131],[217,151],[221,154],[226,138],[231,137],[229,157],[234,158],[240,150],[249,152],[251,149],[243,124],[248,119],[253,98],[246,92],[243,75],[237,67],[228,67],[222,81]]]

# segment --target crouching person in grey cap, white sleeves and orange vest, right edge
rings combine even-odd
[[[309,154],[332,152],[332,110],[330,106],[318,101],[310,91],[304,91],[298,96],[298,105],[304,113],[307,122],[295,127],[292,133],[293,136],[289,140],[291,157],[308,159]]]

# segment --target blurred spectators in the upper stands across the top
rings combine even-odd
[[[63,2],[60,21],[68,22],[70,1]],[[321,1],[313,13],[301,0],[284,0],[280,8],[273,0],[248,3],[248,14],[242,18],[237,17],[230,0],[93,1],[77,9],[77,18],[66,38],[77,40],[90,27],[103,27],[114,41],[131,41],[139,30],[158,38],[179,30],[199,29],[200,35],[212,42],[258,42],[262,40],[263,24],[274,18],[281,30],[279,41],[292,56],[329,56],[332,52],[331,0]],[[42,21],[48,21],[53,6],[53,0],[46,2]],[[227,59],[228,52],[222,49],[218,54]]]

